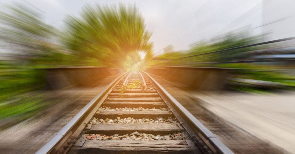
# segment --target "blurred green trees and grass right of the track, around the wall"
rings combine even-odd
[[[292,63],[290,65],[287,61],[271,62],[271,59],[269,59],[269,62],[262,63],[223,63],[257,60],[257,57],[260,56],[263,58],[266,57],[266,55],[276,55],[280,57],[280,55],[286,54],[286,52],[282,52],[280,48],[273,50],[276,52],[268,53],[268,51],[276,47],[276,45],[282,46],[282,43],[265,44],[205,54],[223,49],[261,43],[264,42],[264,38],[268,35],[269,34],[251,35],[249,29],[243,28],[219,35],[208,41],[203,40],[191,44],[190,49],[186,51],[175,51],[170,45],[163,49],[164,54],[154,57],[151,64],[152,67],[200,66],[233,68],[236,70],[233,71],[229,81],[232,84],[232,88],[236,90],[258,92],[268,89],[289,89],[295,87],[295,77],[292,71],[284,71],[284,69],[294,69]],[[292,46],[292,48],[294,48],[294,46]],[[292,51],[287,51],[287,53],[295,54],[295,48]],[[203,55],[193,56],[197,54]]]

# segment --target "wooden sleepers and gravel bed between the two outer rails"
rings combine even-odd
[[[83,145],[74,145],[69,152],[194,153],[197,147],[151,82],[139,72],[128,75],[114,86],[89,121],[91,126],[81,133]]]

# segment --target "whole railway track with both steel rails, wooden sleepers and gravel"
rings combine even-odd
[[[37,153],[233,153],[145,72],[115,79]]]

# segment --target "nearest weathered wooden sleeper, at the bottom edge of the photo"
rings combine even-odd
[[[190,141],[189,141],[190,142]],[[194,153],[187,141],[85,141],[77,153]]]

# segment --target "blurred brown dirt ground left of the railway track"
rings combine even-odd
[[[44,91],[46,97],[57,103],[1,131],[0,153],[35,153],[117,76],[101,80],[96,87]]]

